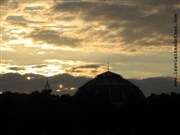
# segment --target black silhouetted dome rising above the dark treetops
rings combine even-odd
[[[78,89],[76,95],[83,98],[108,97],[113,104],[140,103],[145,99],[138,86],[110,71],[97,75],[85,83]]]

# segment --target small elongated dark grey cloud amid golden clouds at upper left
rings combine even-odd
[[[45,42],[57,46],[78,46],[81,39],[61,36],[57,31],[54,30],[37,30],[35,29],[28,36],[34,41]]]

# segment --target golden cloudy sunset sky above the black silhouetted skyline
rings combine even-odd
[[[179,9],[178,0],[1,0],[0,91],[40,89],[38,78],[41,87],[49,78],[56,92],[73,91],[107,71],[108,59],[110,71],[138,80],[144,91],[156,91],[152,78],[171,80],[165,88],[174,89]],[[23,82],[34,83],[27,90]]]

